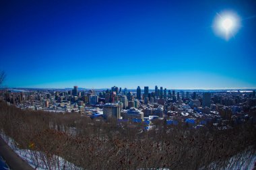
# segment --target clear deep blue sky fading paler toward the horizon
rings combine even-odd
[[[240,28],[214,31],[232,11]],[[256,87],[256,1],[0,1],[6,87]]]

